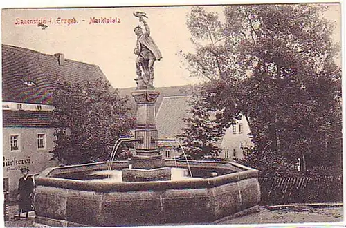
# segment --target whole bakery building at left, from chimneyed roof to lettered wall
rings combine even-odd
[[[39,173],[56,166],[48,151],[54,146],[53,87],[62,81],[83,83],[106,79],[98,66],[2,45],[3,178],[15,196],[20,167]]]

